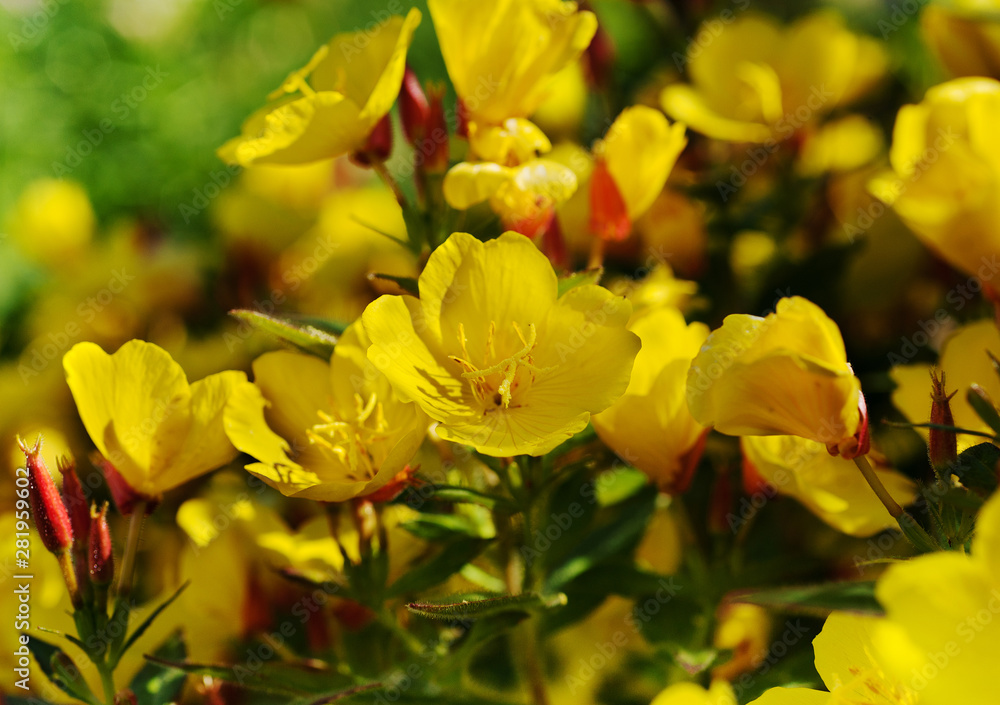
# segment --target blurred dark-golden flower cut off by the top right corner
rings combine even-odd
[[[924,39],[953,76],[1000,79],[1000,2],[932,2],[920,14]]]

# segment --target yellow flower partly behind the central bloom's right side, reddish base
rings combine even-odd
[[[639,336],[625,395],[593,418],[594,430],[629,464],[667,492],[682,491],[698,461],[708,428],[688,411],[688,367],[708,337],[703,323],[684,322],[675,309],[658,309],[629,325]]]

